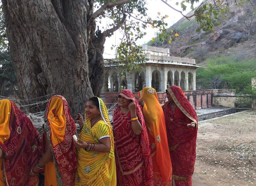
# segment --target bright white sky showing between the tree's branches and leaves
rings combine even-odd
[[[176,2],[181,2],[182,0],[176,0],[173,1],[167,1],[171,6],[173,6],[174,8],[181,10],[180,5],[176,6],[175,3]],[[160,0],[147,0],[148,2],[148,12],[147,14],[152,17],[152,18],[156,18],[158,16],[158,12],[160,12],[160,16],[164,16],[164,15],[168,15],[169,17],[167,17],[165,19],[165,21],[168,23],[167,27],[172,26],[174,23],[176,23],[178,20],[180,20],[183,16],[172,10],[170,7],[168,7],[166,4],[164,4],[162,1]],[[187,10],[184,14],[190,12],[190,6],[187,5]],[[107,21],[104,23],[107,24]],[[156,37],[156,33],[157,33],[157,29],[156,28],[151,28],[151,26],[148,26],[147,30],[145,32],[147,32],[147,35],[144,36],[143,39],[140,39],[137,41],[136,44],[138,45],[142,45],[142,44],[146,44],[149,40],[151,40],[152,38]],[[106,58],[114,58],[115,56],[115,49],[111,50],[111,46],[113,45],[117,45],[120,43],[120,38],[121,38],[122,34],[119,31],[116,31],[114,33],[114,35],[112,35],[110,38],[106,38],[106,42],[104,44],[104,53],[103,53],[103,57]]]

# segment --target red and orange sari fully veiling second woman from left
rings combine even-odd
[[[76,149],[72,136],[76,134],[75,122],[67,100],[54,95],[47,102],[44,116],[43,152],[48,141],[53,162],[45,165],[45,185],[72,186],[77,166]]]

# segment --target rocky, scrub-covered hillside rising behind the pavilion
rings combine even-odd
[[[170,48],[170,55],[196,59],[196,64],[205,66],[208,58],[234,56],[240,60],[254,58],[256,53],[256,7],[235,1],[226,1],[229,13],[220,17],[221,24],[214,25],[214,32],[196,33],[198,24],[192,18],[180,19],[170,29],[179,34],[179,39],[168,42],[152,42],[157,47]],[[167,44],[166,44],[167,43]]]

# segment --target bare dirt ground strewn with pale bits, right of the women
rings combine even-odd
[[[255,123],[255,111],[199,122],[194,173],[205,185],[256,185]]]

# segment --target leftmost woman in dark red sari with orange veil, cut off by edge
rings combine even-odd
[[[10,100],[0,100],[0,185],[35,186],[31,169],[42,157],[42,138],[28,117]]]

